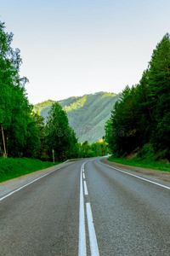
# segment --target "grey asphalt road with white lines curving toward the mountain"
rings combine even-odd
[[[99,159],[51,170],[0,184],[1,256],[170,255],[170,183]]]

